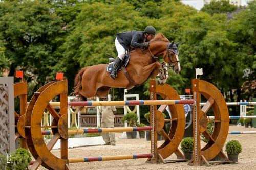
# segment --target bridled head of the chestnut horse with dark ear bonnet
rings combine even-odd
[[[179,50],[178,43],[171,42],[167,45],[167,51],[163,55],[163,60],[167,62],[170,67],[174,70],[176,74],[178,74],[181,70],[180,62],[179,62]]]

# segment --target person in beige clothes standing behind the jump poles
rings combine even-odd
[[[108,101],[108,97],[102,98],[102,101]],[[115,106],[101,106],[100,112],[101,117],[101,128],[114,128],[114,114],[116,114]],[[114,132],[102,132],[103,140],[106,142],[105,145],[116,145],[115,133]]]

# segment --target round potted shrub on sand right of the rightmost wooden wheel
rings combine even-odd
[[[233,162],[238,162],[238,154],[241,153],[242,146],[237,140],[230,140],[226,144],[226,152],[228,159]]]

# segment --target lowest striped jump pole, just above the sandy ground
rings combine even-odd
[[[122,160],[122,159],[139,159],[139,158],[152,158],[152,154],[116,155],[116,156],[102,156],[102,157],[99,156],[99,157],[71,158],[71,159],[69,159],[69,163],[108,161],[108,160]]]

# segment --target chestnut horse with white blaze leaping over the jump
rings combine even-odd
[[[136,48],[132,50],[129,64],[125,68],[130,78],[137,85],[143,84],[149,77],[154,79],[159,74],[159,71],[163,69],[163,64],[157,61],[160,56],[163,56],[163,60],[178,74],[181,70],[178,45],[179,43],[170,43],[162,33],[158,33],[150,41],[148,49]],[[118,71],[116,79],[113,80],[110,77],[110,73],[106,71],[107,66],[108,64],[98,64],[84,67],[76,74],[73,92],[77,96],[76,100],[82,101],[84,98],[94,96],[102,98],[109,94],[111,87],[126,88],[129,85],[129,80],[121,70]]]

